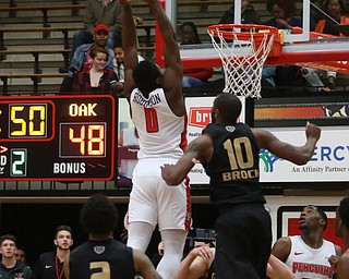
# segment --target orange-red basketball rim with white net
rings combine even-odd
[[[217,24],[207,27],[225,72],[225,89],[237,96],[261,98],[261,80],[268,56],[280,56],[278,29],[255,24]]]

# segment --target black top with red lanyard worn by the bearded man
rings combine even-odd
[[[65,279],[63,262],[56,256],[56,251],[39,256],[34,267],[33,279]]]

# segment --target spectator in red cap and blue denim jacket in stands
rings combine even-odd
[[[72,76],[81,71],[88,71],[92,66],[91,50],[94,47],[105,48],[108,51],[108,62],[106,69],[112,70],[115,53],[112,48],[107,46],[109,39],[109,28],[106,24],[98,24],[94,29],[94,43],[84,44],[76,48],[69,66],[69,74]]]

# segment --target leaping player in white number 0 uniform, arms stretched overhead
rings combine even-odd
[[[152,61],[139,63],[131,3],[120,2],[124,5],[122,47],[127,50],[123,93],[140,136],[129,204],[128,245],[145,251],[158,223],[165,254],[157,270],[164,278],[174,279],[191,217],[189,187],[182,181],[178,187],[169,187],[161,179],[160,166],[176,162],[186,145],[182,64],[172,25],[157,0],[146,2],[160,26],[166,69],[160,72]]]

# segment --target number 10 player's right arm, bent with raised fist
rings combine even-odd
[[[306,163],[313,156],[315,145],[321,135],[321,129],[310,122],[305,126],[306,142],[302,146],[294,146],[278,140],[266,130],[253,130],[260,148],[266,148],[277,157],[289,160],[296,165]]]

